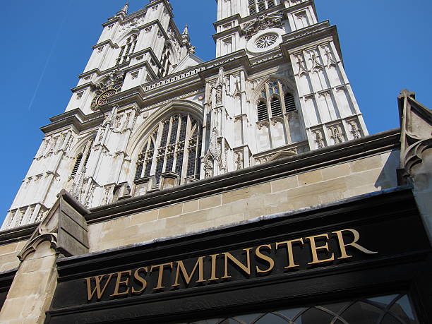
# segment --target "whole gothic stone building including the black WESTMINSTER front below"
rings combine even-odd
[[[1,323],[430,323],[431,110],[369,136],[313,0],[217,0],[210,61],[172,10],[108,18],[42,127]]]

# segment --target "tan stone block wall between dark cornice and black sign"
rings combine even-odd
[[[399,151],[89,226],[90,251],[241,222],[397,186]]]

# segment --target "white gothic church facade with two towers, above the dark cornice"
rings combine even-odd
[[[63,188],[96,208],[368,135],[313,0],[217,0],[211,61],[172,10],[102,24],[1,229],[39,222]]]

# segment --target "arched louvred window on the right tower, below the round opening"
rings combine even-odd
[[[291,90],[281,80],[270,80],[260,92],[256,102],[258,150],[270,150],[299,141],[301,134],[288,113],[296,111]],[[294,131],[294,133],[293,133]]]

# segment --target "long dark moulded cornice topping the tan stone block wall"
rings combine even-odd
[[[86,216],[86,219],[90,224],[104,222],[136,212],[162,208],[186,200],[212,196],[217,193],[280,179],[284,176],[292,176],[376,155],[380,152],[388,152],[400,148],[399,136],[400,129],[395,128],[358,140],[349,140],[292,157],[283,157],[280,160],[148,193],[144,196],[126,198],[110,205],[90,209],[91,212]]]

